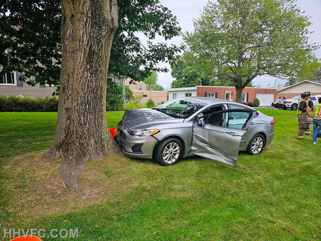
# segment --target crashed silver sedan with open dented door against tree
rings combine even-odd
[[[270,144],[273,124],[272,117],[243,104],[185,97],[153,109],[127,110],[115,138],[127,156],[164,166],[193,155],[236,166],[239,151],[258,155]]]

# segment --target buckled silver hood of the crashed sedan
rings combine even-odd
[[[153,109],[132,109],[125,111],[121,124],[128,129],[146,129],[164,122],[184,122],[184,119],[174,118]]]

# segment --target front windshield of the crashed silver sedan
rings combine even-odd
[[[204,103],[175,99],[157,106],[154,110],[165,113],[171,117],[185,119],[204,106]]]

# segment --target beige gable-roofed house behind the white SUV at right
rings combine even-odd
[[[287,99],[300,95],[302,92],[309,91],[311,95],[321,94],[321,83],[316,81],[304,80],[294,85],[290,85],[276,91],[278,96],[285,95]]]

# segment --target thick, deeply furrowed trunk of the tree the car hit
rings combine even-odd
[[[46,157],[62,156],[59,176],[81,195],[78,178],[87,160],[119,147],[106,121],[110,49],[118,26],[117,0],[61,0],[62,63],[58,119]]]

